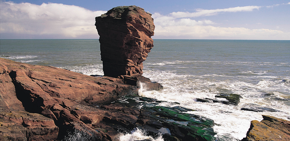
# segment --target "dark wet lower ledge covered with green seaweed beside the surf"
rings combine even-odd
[[[96,128],[106,130],[110,133],[110,138],[115,138],[114,133],[117,131],[128,133],[138,128],[146,131],[147,136],[162,134],[165,140],[170,141],[215,140],[216,133],[211,128],[214,126],[213,120],[184,113],[193,110],[175,103],[171,103],[173,107],[158,106],[159,104],[160,101],[152,98],[123,96],[111,105],[101,107],[106,109],[108,116],[100,122],[103,125],[96,125]]]

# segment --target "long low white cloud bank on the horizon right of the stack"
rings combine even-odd
[[[290,32],[269,29],[223,28],[211,25],[155,27],[154,39],[289,40]]]

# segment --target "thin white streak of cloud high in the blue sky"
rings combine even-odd
[[[253,11],[254,9],[259,9],[262,6],[243,6],[243,7],[233,7],[225,9],[213,9],[213,10],[204,10],[196,9],[196,12],[172,12],[171,15],[174,18],[185,18],[185,17],[200,17],[200,16],[211,16],[216,15],[220,12],[242,12],[242,11]]]

